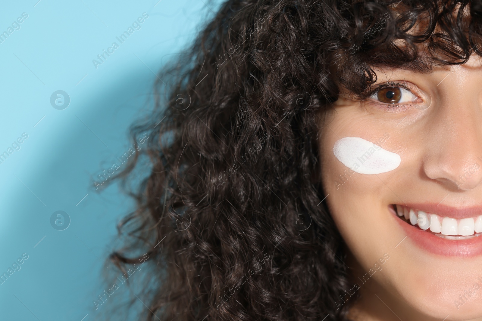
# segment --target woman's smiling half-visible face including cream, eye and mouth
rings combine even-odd
[[[362,294],[352,311],[369,320],[480,318],[482,235],[467,235],[482,231],[481,59],[430,73],[375,71],[377,84],[398,88],[365,101],[340,95],[320,115],[326,201],[353,258],[350,294]]]

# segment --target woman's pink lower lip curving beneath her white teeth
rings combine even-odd
[[[389,212],[394,216],[395,220],[400,224],[400,227],[402,227],[407,236],[410,237],[421,249],[444,257],[475,257],[482,255],[482,236],[468,240],[443,239],[428,231],[415,227],[412,224],[408,224],[397,216],[395,211],[391,208],[391,205],[389,205],[388,208],[391,209]],[[420,209],[418,206],[414,206],[414,208]]]

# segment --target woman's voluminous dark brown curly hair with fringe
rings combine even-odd
[[[147,147],[120,175],[150,168],[110,257],[124,270],[147,253],[142,318],[348,320],[347,249],[320,180],[324,111],[340,86],[366,98],[375,66],[481,55],[481,19],[468,0],[224,2],[159,74],[154,114],[132,129]]]

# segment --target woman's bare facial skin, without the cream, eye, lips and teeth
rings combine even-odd
[[[406,81],[412,92],[430,102],[423,108],[404,103],[405,108],[390,110],[375,99],[360,101],[343,94],[332,110],[320,115],[321,180],[348,247],[345,263],[351,280],[360,284],[361,297],[350,316],[355,321],[482,320],[482,282],[477,280],[482,256],[432,254],[404,239],[399,218],[388,211],[388,205],[403,202],[455,207],[482,203],[482,169],[464,184],[459,179],[475,163],[482,166],[481,59],[472,55],[466,64],[438,66],[426,74],[375,71],[377,84]],[[380,143],[386,133],[389,138]],[[343,137],[376,142],[399,154],[402,162],[386,173],[353,173],[333,154],[335,141]],[[379,259],[385,253],[389,259],[382,265]],[[375,263],[382,269],[362,283],[359,277]],[[474,283],[481,288],[457,308],[455,300]]]

